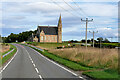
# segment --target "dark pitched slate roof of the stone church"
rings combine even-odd
[[[45,35],[58,35],[58,27],[56,26],[38,26],[39,31],[44,31]]]

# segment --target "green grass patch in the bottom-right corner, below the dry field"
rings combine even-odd
[[[97,80],[120,80],[120,75],[118,75],[118,71],[112,69],[88,71],[83,72],[83,74]]]

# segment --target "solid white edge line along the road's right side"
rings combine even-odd
[[[31,48],[31,49],[32,49],[32,48]],[[34,49],[33,49],[33,50],[34,50]],[[45,59],[47,59],[48,61],[52,62],[53,64],[55,64],[55,65],[59,66],[60,68],[62,68],[62,69],[64,69],[64,70],[66,70],[66,71],[72,73],[74,76],[78,76],[76,73],[74,73],[74,72],[70,71],[69,69],[67,69],[67,68],[65,68],[65,67],[63,67],[63,66],[61,66],[61,65],[59,65],[58,63],[56,63],[56,62],[50,60],[49,58],[45,57],[44,55],[42,55],[42,54],[39,53],[38,51],[36,51],[36,50],[34,50],[34,51],[37,52],[37,53],[38,53],[40,56],[42,56],[43,58],[45,58]],[[82,76],[78,76],[78,77],[81,78],[81,79],[84,79]],[[84,80],[86,80],[86,79],[84,79]]]

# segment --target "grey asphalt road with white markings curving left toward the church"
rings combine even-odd
[[[2,80],[83,80],[30,47],[14,45],[18,51],[1,72]]]

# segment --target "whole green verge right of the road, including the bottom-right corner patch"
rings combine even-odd
[[[31,46],[29,46],[31,47]],[[48,51],[44,50],[40,51],[34,47],[31,47],[33,49],[35,49],[36,51],[40,52],[41,54],[43,54],[44,56],[60,63],[63,64],[65,66],[67,66],[68,68],[71,68],[75,71],[83,71],[83,75],[87,75],[93,79],[97,79],[97,80],[120,80],[120,76],[118,75],[117,70],[112,70],[112,69],[98,69],[96,67],[89,67],[89,66],[84,66],[81,65],[77,62],[74,61],[70,61],[69,59],[65,59],[62,58],[60,56],[57,56],[55,54],[49,53]]]

